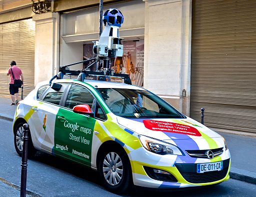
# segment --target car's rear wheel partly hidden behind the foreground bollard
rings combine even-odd
[[[23,124],[26,122],[18,123],[14,128],[14,147],[19,156],[22,156],[23,149]],[[28,143],[27,143],[27,156],[31,157],[35,154],[36,149],[33,146],[30,132],[28,132]]]

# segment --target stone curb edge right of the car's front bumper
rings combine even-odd
[[[229,176],[232,179],[256,184],[256,172],[230,167]]]

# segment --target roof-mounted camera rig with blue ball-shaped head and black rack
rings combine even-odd
[[[117,56],[122,56],[123,45],[119,37],[119,27],[123,23],[123,15],[116,8],[109,8],[104,12],[102,17],[105,28],[103,29],[98,41],[93,41],[93,53],[97,54],[97,57],[78,61],[75,63],[63,65],[59,67],[59,72],[53,76],[49,84],[54,78],[60,79],[64,75],[77,76],[77,80],[83,81],[84,79],[96,79],[96,80],[110,80],[111,77],[118,77],[123,79],[124,83],[131,84],[131,80],[128,74],[115,73],[110,67],[110,59]],[[83,70],[70,70],[69,66],[92,61]],[[100,69],[96,71],[90,71],[90,66],[95,63],[102,62]]]

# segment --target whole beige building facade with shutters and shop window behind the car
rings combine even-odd
[[[1,95],[10,60],[22,68],[27,93],[60,65],[93,55],[98,0],[49,2],[35,14],[30,0],[0,1]],[[256,132],[256,1],[104,0],[110,7],[124,15],[124,56],[114,69],[192,118],[204,107],[208,126]]]

